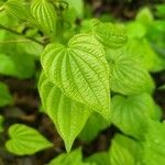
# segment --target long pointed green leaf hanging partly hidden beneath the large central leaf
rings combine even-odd
[[[69,152],[76,136],[87,122],[90,110],[85,105],[66,97],[44,74],[38,81],[38,91],[45,112],[55,123]]]

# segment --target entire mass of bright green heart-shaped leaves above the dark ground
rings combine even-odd
[[[8,0],[2,4],[0,74],[32,78],[35,62],[41,62],[37,89],[42,109],[67,151],[51,165],[165,164],[164,123],[152,98],[155,84],[150,75],[165,69],[165,61],[150,44],[154,36],[148,36],[148,26],[155,22],[148,9],[124,25],[85,19],[81,0]],[[12,97],[0,85],[3,107]],[[0,116],[0,130],[2,121]],[[113,138],[109,151],[85,160],[80,148],[72,151],[77,138],[89,143],[110,124],[122,134]],[[12,124],[9,136],[6,147],[16,155],[53,147],[24,124]]]

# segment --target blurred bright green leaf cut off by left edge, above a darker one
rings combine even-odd
[[[0,54],[0,74],[6,76],[15,76],[16,66],[10,56]]]

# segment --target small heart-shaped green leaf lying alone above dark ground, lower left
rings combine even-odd
[[[53,146],[40,132],[24,124],[11,125],[9,135],[11,139],[7,141],[6,147],[16,155],[32,155]]]

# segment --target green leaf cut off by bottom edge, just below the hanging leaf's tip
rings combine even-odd
[[[87,165],[82,163],[81,150],[77,148],[70,153],[63,153],[52,160],[48,165]]]

